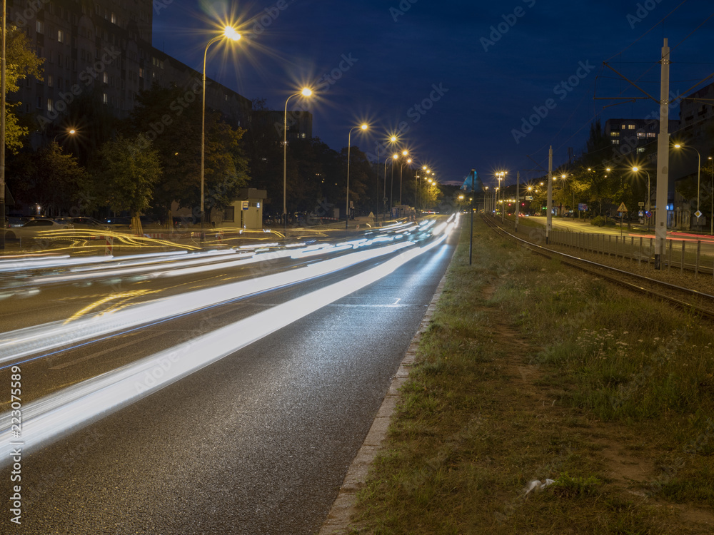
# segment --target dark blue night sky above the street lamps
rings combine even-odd
[[[526,155],[546,168],[552,145],[554,166],[564,163],[568,147],[582,151],[594,118],[604,123],[658,110],[653,101],[603,110],[615,101],[594,101],[595,94],[641,96],[603,61],[656,98],[663,37],[673,49],[672,91],[714,72],[710,0],[154,0],[154,6],[154,46],[198,71],[215,25],[238,16],[246,39],[231,51],[213,45],[208,76],[276,109],[303,84],[319,86],[316,98],[289,106],[313,113],[314,136],[339,150],[350,128],[366,120],[369,135],[353,133],[353,146],[374,154],[376,142],[401,126],[402,144],[442,181],[461,180],[471,168],[486,184],[499,169],[513,180],[516,170],[535,176],[526,172],[536,167]],[[537,126],[523,129],[523,119],[537,111],[543,116]]]

